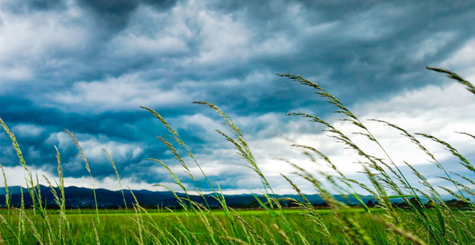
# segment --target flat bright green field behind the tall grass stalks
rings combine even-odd
[[[7,212],[7,210],[2,210],[0,214],[6,216]],[[40,216],[35,216],[32,210],[27,210],[25,212],[30,218],[33,217],[33,222],[41,223],[42,218]],[[363,225],[364,229],[372,231],[367,235],[371,237],[372,240],[374,240],[375,244],[392,244],[391,241],[381,239],[381,237],[390,236],[391,231],[385,229],[385,227],[382,227],[378,223],[374,222],[374,220],[369,218],[366,215],[365,209],[349,209],[348,212],[354,216],[354,218],[359,220],[359,223]],[[371,209],[371,212],[376,215],[380,214],[382,210]],[[219,236],[234,233],[232,224],[223,211],[212,211],[211,214],[205,214],[204,216],[199,216],[199,214],[186,214],[184,211],[172,213],[170,211],[147,210],[147,213],[148,214],[142,213],[136,216],[134,211],[130,211],[128,213],[123,210],[99,211],[99,217],[101,219],[101,223],[103,224],[101,227],[100,236],[101,243],[136,244],[136,240],[140,240],[140,237],[134,236],[140,232],[143,232],[141,229],[149,229],[150,231],[154,231],[158,228],[163,234],[157,238],[158,241],[163,244],[187,243],[186,239],[191,240],[191,244],[208,244],[212,240],[212,237],[210,236],[210,233],[206,231],[205,224],[202,222],[203,217],[208,220],[210,226],[220,227],[219,230],[215,231],[217,234],[219,234]],[[315,234],[315,232],[319,230],[319,225],[314,222],[307,222],[307,219],[304,217],[304,211],[285,210],[284,213],[287,216],[291,227],[293,227],[293,232],[301,234],[303,237],[305,237],[309,244],[328,244],[330,242],[323,235]],[[341,229],[341,223],[332,215],[331,210],[318,210],[317,213],[327,224],[328,231],[330,231],[332,234],[333,242],[336,242],[337,244],[346,244],[348,242],[351,243],[351,241],[348,240],[348,236],[345,235]],[[413,220],[409,214],[401,213],[400,215],[406,216],[406,229],[418,231],[421,232],[421,234],[427,235],[426,232],[424,232],[424,227],[417,225],[417,221]],[[432,215],[436,216],[435,212],[433,212]],[[51,218],[51,220],[58,220],[58,216],[60,216],[59,211],[49,212],[49,218]],[[246,227],[247,225],[249,227],[253,227],[252,230],[250,228],[247,229],[249,229],[249,232],[259,234],[258,237],[260,237],[262,240],[260,240],[260,238],[256,238],[256,243],[286,243],[285,237],[280,234],[281,229],[272,226],[272,224],[278,223],[276,220],[280,219],[282,216],[282,211],[276,211],[276,214],[271,214],[269,211],[265,210],[236,211],[234,216],[234,222],[242,222]],[[239,218],[236,218],[237,216],[239,216]],[[93,229],[91,229],[91,224],[95,222],[96,219],[95,210],[67,210],[66,217],[69,220],[69,224],[71,226],[70,229],[74,234],[74,243],[95,244],[95,233]],[[137,218],[140,220],[139,222],[137,222]],[[243,221],[239,221],[239,219],[242,219]],[[19,222],[19,219],[17,216],[13,216],[10,222]],[[143,227],[138,225],[140,222],[143,222]],[[58,224],[51,225],[55,226]],[[45,232],[47,232],[47,229],[38,229],[38,233],[40,233],[41,236],[47,236],[45,235]],[[245,237],[245,229],[237,229],[237,233],[234,235]],[[10,237],[10,240],[12,238],[14,238],[14,235]],[[34,237],[33,233],[28,230],[21,235],[20,239],[23,244],[35,244],[37,242],[36,237]],[[178,242],[175,239],[178,240]],[[298,238],[289,237],[289,240],[294,239],[297,240]],[[475,242],[475,240],[473,241]],[[143,243],[154,244],[154,239],[145,235],[143,237]]]

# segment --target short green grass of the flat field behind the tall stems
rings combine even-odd
[[[190,234],[195,235],[197,242],[199,244],[204,244],[208,242],[208,233],[204,231],[202,227],[202,222],[200,222],[200,218],[197,217],[196,214],[186,214],[185,212],[158,212],[156,210],[147,210],[151,215],[151,218],[159,224],[159,228],[166,233],[165,237],[161,237],[160,240],[163,243],[167,243],[168,240],[173,240],[172,237],[180,237],[182,234],[180,231],[187,231]],[[371,230],[373,232],[380,232],[380,233],[390,233],[384,227],[380,225],[375,225],[372,223],[372,220],[365,215],[364,209],[350,209],[349,210],[355,218],[360,220],[361,224],[365,229]],[[372,211],[376,214],[381,212],[380,209],[372,209]],[[0,214],[5,215],[7,210],[1,210]],[[27,215],[30,217],[34,217],[34,211],[27,210]],[[287,217],[289,218],[290,224],[294,227],[295,232],[300,233],[306,237],[310,244],[319,244],[323,242],[326,244],[328,240],[323,239],[322,236],[315,235],[315,231],[318,230],[318,224],[308,222],[306,218],[304,218],[304,211],[300,210],[286,210]],[[341,231],[340,223],[332,216],[332,211],[328,209],[318,210],[318,214],[321,215],[324,222],[328,224],[328,229],[330,233],[332,233],[332,239],[337,242],[341,243],[345,240],[348,240],[348,237]],[[237,214],[249,224],[250,227],[254,227],[254,230],[258,234],[266,234],[262,235],[262,238],[266,241],[271,241],[271,236],[273,239],[276,240],[279,244],[284,242],[282,235],[278,232],[278,229],[273,229],[271,224],[273,224],[275,217],[271,216],[267,211],[256,211],[256,210],[248,210],[248,211],[237,211]],[[277,212],[278,216],[282,215],[281,212]],[[60,213],[58,211],[50,211],[50,218],[51,220],[57,220]],[[71,229],[75,234],[74,240],[77,244],[94,244],[95,243],[95,233],[90,227],[90,224],[96,220],[96,213],[95,210],[67,210],[66,216],[71,224]],[[226,229],[228,233],[232,233],[232,226],[230,225],[229,220],[226,218],[226,214],[223,211],[212,211],[212,215],[216,216],[217,220],[223,224],[223,227]],[[407,215],[407,214],[402,214]],[[435,214],[433,214],[435,215]],[[147,216],[146,214],[142,214],[143,218]],[[16,217],[16,216],[15,216]],[[101,218],[101,223],[105,224],[101,229],[103,232],[103,236],[101,236],[101,243],[102,244],[123,244],[124,239],[127,240],[127,244],[135,244],[133,234],[136,233],[138,230],[136,229],[136,223],[134,222],[135,214],[126,214],[123,211],[117,210],[100,210],[99,217]],[[210,225],[218,226],[215,220],[212,220],[210,214],[206,214],[206,217],[210,219]],[[178,226],[177,218],[180,219],[182,222],[183,227]],[[407,217],[409,220],[411,218]],[[260,222],[263,222],[267,225],[267,229],[269,229],[270,234],[267,234],[266,228],[263,227]],[[39,216],[36,217],[35,222],[38,224],[41,223],[41,218]],[[239,220],[234,220],[235,222],[239,222]],[[14,218],[12,222],[19,222]],[[410,224],[407,228],[411,230],[421,230],[423,231],[423,227],[417,226],[417,222],[413,220],[412,222],[408,222]],[[54,224],[53,224],[54,225]],[[144,224],[145,229],[156,229],[151,224]],[[38,229],[40,234],[44,231],[43,229]],[[117,232],[121,231],[121,232]],[[169,232],[169,233],[168,233]],[[245,233],[241,231],[241,236],[245,236]],[[25,233],[22,237],[23,244],[34,244],[36,239],[34,236],[31,235],[29,231]],[[377,240],[378,237],[375,237],[376,244],[385,244],[386,241]],[[152,244],[151,240],[145,239],[145,244]],[[196,241],[195,241],[196,242]]]

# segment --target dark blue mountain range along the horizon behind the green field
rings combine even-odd
[[[10,195],[12,196],[12,205],[19,206],[21,205],[21,188],[19,186],[12,186],[8,188]],[[55,191],[58,192],[58,189],[55,188]],[[173,196],[172,192],[154,192],[149,190],[132,190],[134,196],[137,198],[138,203],[140,203],[143,207],[157,207],[165,206],[165,207],[177,207],[178,201],[176,200],[175,196]],[[47,186],[40,185],[40,193],[42,196],[43,203],[47,203],[49,208],[56,207],[56,203],[54,202],[54,196],[51,193],[51,189]],[[75,186],[64,188],[65,198],[66,198],[66,206],[69,208],[77,208],[77,207],[95,207],[94,201],[94,194],[93,190],[89,188],[78,188]],[[127,206],[132,207],[134,203],[134,197],[130,193],[130,190],[124,190],[125,194],[125,201]],[[97,195],[97,205],[101,208],[119,208],[124,207],[123,196],[120,190],[112,191],[106,189],[96,189]],[[177,193],[179,197],[186,197],[186,194]],[[212,198],[212,195],[207,194],[206,201],[210,207],[219,207],[219,203]],[[258,207],[259,203],[256,201],[256,197],[251,194],[241,194],[241,195],[224,195],[226,198],[226,204],[230,207]],[[295,194],[289,195],[276,195],[277,198],[293,198],[297,201],[302,201],[302,198]],[[334,195],[333,196],[338,201],[343,203],[347,203],[350,205],[357,205],[358,201],[356,198],[352,196],[343,197],[341,195]],[[368,201],[372,201],[372,203],[376,202],[376,199],[372,196],[360,196],[363,199],[363,202],[367,203]],[[29,196],[28,190],[23,188],[23,198],[25,200],[25,205],[31,205],[32,200]],[[204,205],[204,199],[201,196],[191,195],[191,200],[201,203]],[[264,196],[258,196],[258,198],[265,202]],[[324,200],[317,194],[310,194],[307,195],[308,201],[313,203],[314,205],[325,205]],[[444,196],[444,200],[453,199],[450,196]],[[391,201],[395,203],[400,203],[402,198],[394,198]],[[291,205],[289,201],[283,201],[284,205]],[[5,206],[5,189],[0,188],[0,206]]]

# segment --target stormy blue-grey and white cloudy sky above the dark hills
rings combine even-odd
[[[91,187],[69,129],[90,162],[95,186],[118,190],[179,188],[153,157],[168,164],[187,188],[193,181],[167,146],[167,129],[139,106],[155,109],[226,193],[258,192],[208,101],[232,118],[274,190],[293,193],[280,173],[315,192],[285,160],[310,172],[327,171],[291,144],[319,149],[343,172],[364,180],[361,159],[305,118],[324,118],[368,153],[382,152],[352,132],[314,90],[277,73],[302,75],[337,96],[374,133],[396,164],[413,164],[430,181],[441,171],[387,120],[428,133],[472,162],[475,96],[425,66],[448,68],[475,81],[474,1],[174,1],[1,0],[0,118],[15,134],[38,176],[57,176],[54,146],[66,185]],[[417,136],[449,171],[472,175],[441,146]],[[175,144],[179,153],[186,151]],[[204,177],[184,158],[201,183]],[[285,160],[284,160],[285,159]],[[0,163],[8,185],[25,185],[11,142],[0,132]],[[57,177],[56,177],[57,178]],[[409,177],[414,179],[413,177]],[[414,181],[417,181],[414,179]],[[40,178],[41,183],[45,180]]]

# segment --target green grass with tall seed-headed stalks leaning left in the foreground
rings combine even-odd
[[[459,75],[440,68],[428,68],[440,73],[446,73],[448,77],[463,84],[470,92],[475,94],[474,86],[469,81],[462,79]],[[147,210],[136,201],[132,207],[127,209],[124,190],[120,180],[119,172],[114,164],[114,160],[107,151],[105,154],[110,159],[112,168],[117,175],[117,181],[121,187],[126,211],[124,213],[107,213],[99,211],[95,196],[93,174],[90,171],[86,155],[82,151],[80,143],[70,131],[66,133],[71,136],[79,150],[79,156],[84,161],[84,166],[90,175],[95,197],[95,211],[91,214],[87,210],[71,211],[66,210],[64,197],[64,177],[60,152],[56,149],[56,159],[58,161],[58,181],[51,183],[44,177],[53,196],[58,210],[47,210],[41,197],[38,176],[34,175],[23,159],[19,144],[7,125],[0,119],[0,125],[12,141],[12,146],[19,158],[19,163],[28,173],[26,186],[32,198],[32,209],[25,209],[23,203],[21,207],[12,207],[11,194],[8,191],[6,182],[7,176],[0,164],[5,181],[5,202],[6,209],[0,211],[0,232],[5,244],[474,244],[475,243],[475,205],[469,200],[474,196],[473,187],[475,181],[464,175],[464,172],[448,172],[437,158],[426,149],[426,147],[416,138],[428,138],[441,144],[452,155],[459,159],[459,164],[466,168],[468,172],[475,173],[475,168],[459,151],[454,149],[448,142],[429,136],[424,133],[410,133],[398,125],[394,125],[382,120],[374,120],[383,125],[387,125],[402,133],[415,147],[422,150],[435,164],[435,168],[441,171],[441,179],[449,185],[434,186],[415,166],[406,164],[411,170],[413,177],[422,183],[424,188],[415,188],[415,183],[408,181],[409,176],[403,174],[400,165],[396,164],[378,139],[372,134],[361,120],[354,115],[348,107],[345,107],[332,94],[326,92],[324,88],[316,83],[310,82],[304,77],[290,74],[280,74],[281,77],[288,77],[293,81],[302,83],[304,86],[313,88],[315,94],[319,94],[326,101],[337,107],[337,114],[358,127],[357,134],[365,136],[374,147],[385,153],[385,159],[369,155],[356,144],[352,138],[347,136],[334,125],[330,125],[318,116],[295,112],[290,116],[302,116],[308,118],[310,122],[323,125],[325,131],[329,132],[333,138],[341,142],[343,146],[360,155],[364,160],[361,162],[363,172],[366,177],[364,183],[347,177],[337,168],[331,160],[313,146],[298,145],[293,147],[303,149],[310,159],[319,163],[324,162],[322,169],[317,175],[313,175],[308,170],[292,163],[295,168],[295,175],[308,181],[308,185],[318,190],[321,198],[326,201],[329,210],[321,211],[316,209],[302,190],[297,186],[292,177],[282,175],[283,179],[295,190],[303,201],[292,198],[277,198],[274,190],[267,181],[265,175],[260,170],[258,162],[252,155],[251,149],[245,141],[243,133],[216,105],[207,102],[197,101],[194,103],[205,105],[217,112],[224,120],[224,125],[230,133],[224,131],[217,132],[230,142],[237,153],[245,159],[247,166],[256,173],[262,183],[266,201],[256,197],[265,211],[236,211],[226,205],[219,183],[212,184],[206,173],[188,149],[188,146],[180,139],[178,133],[162,118],[154,109],[142,107],[158,118],[160,123],[171,133],[173,142],[158,137],[173,153],[175,159],[181,164],[188,177],[195,184],[193,190],[187,190],[180,179],[167,164],[160,159],[150,159],[157,162],[159,166],[167,168],[173,176],[175,184],[180,186],[185,198],[180,197],[173,190],[167,187],[177,198],[182,207],[182,211],[156,212]],[[463,133],[470,136],[470,133]],[[188,192],[195,191],[204,197],[202,186],[199,186],[196,177],[193,176],[188,164],[178,153],[176,147],[184,149],[189,159],[195,164],[206,179],[209,190],[212,190],[212,197],[220,204],[220,211],[211,211],[206,198],[203,198],[204,205],[192,201]],[[325,168],[325,169],[323,169]],[[332,170],[334,175],[330,175],[326,170]],[[187,180],[188,181],[188,180]],[[328,184],[330,183],[330,185]],[[363,202],[356,190],[365,190],[372,194],[378,201],[378,208],[373,209]],[[56,191],[58,190],[58,192]],[[454,198],[466,203],[467,208],[453,210],[442,201],[440,190],[452,194]],[[334,198],[333,194],[341,194],[347,198],[355,198],[363,209],[353,209]],[[391,203],[391,198],[402,198],[406,202],[407,208],[400,208]],[[297,209],[290,210],[282,207],[282,201],[291,201]]]

